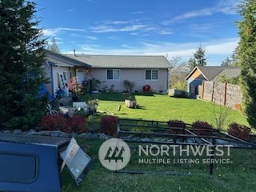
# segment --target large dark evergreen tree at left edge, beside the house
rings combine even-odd
[[[0,1],[0,129],[33,128],[45,113],[45,40],[34,13],[34,2]]]

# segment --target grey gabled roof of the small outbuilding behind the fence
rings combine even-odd
[[[225,75],[226,78],[234,78],[240,74],[240,68],[238,66],[196,66],[186,77],[186,80],[194,74],[195,70],[199,70],[207,81],[211,81],[221,75]]]

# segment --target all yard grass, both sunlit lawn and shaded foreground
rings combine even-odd
[[[210,122],[214,125],[213,106],[204,102],[186,98],[170,98],[161,94],[133,94],[139,109],[130,109],[124,105],[125,94],[94,94],[98,99],[96,117],[90,117],[91,127],[98,127],[102,115],[112,114],[119,118],[142,118],[147,120],[168,121],[180,119],[191,123],[196,120]],[[88,98],[84,98],[87,100]],[[118,105],[121,110],[118,111]],[[222,108],[225,110],[225,108]],[[237,110],[227,110],[228,118],[225,127],[230,122],[248,125],[246,118]],[[98,150],[103,140],[78,139],[80,146],[85,147],[86,153],[94,158],[94,166],[86,176],[82,186],[76,186],[74,180],[65,169],[62,173],[62,192],[71,191],[195,191],[195,192],[240,192],[255,191],[256,166],[254,158],[256,150],[232,149],[230,164],[214,165],[214,174],[210,175],[209,165],[141,165],[136,163],[136,151],[132,154],[125,169],[127,170],[156,170],[156,171],[185,171],[193,175],[161,175],[161,174],[120,174],[106,170],[98,160]],[[134,160],[135,159],[135,160]]]

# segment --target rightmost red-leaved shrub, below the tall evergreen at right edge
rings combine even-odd
[[[228,126],[227,132],[236,138],[241,138],[248,141],[250,138],[251,130],[248,126],[243,126],[236,122],[233,122]]]

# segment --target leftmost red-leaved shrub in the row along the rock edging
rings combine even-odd
[[[39,130],[66,130],[66,118],[62,114],[46,115],[38,123]]]

